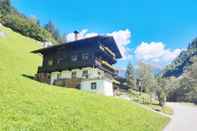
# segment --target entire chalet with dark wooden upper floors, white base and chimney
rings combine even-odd
[[[121,53],[111,36],[94,36],[32,51],[43,56],[36,79],[59,86],[113,96]]]

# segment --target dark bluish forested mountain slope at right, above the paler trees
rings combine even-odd
[[[179,77],[192,64],[192,58],[197,56],[197,38],[195,38],[188,46],[188,48],[180,53],[180,55],[163,71],[164,77]]]

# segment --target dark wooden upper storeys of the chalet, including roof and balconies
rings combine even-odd
[[[63,43],[35,50],[33,53],[41,53],[43,56],[38,74],[96,67],[115,75],[116,70],[111,65],[116,63],[117,58],[121,58],[113,37],[109,36],[96,36]]]

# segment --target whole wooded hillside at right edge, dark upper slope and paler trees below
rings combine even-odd
[[[168,101],[197,104],[197,38],[164,69],[162,76],[168,78]]]

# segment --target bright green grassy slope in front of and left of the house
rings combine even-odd
[[[0,129],[160,131],[168,118],[134,103],[41,84],[34,75],[41,57],[36,41],[11,30],[0,38]]]

